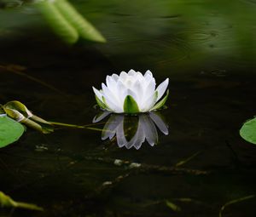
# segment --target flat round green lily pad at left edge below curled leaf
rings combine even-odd
[[[6,115],[0,116],[0,148],[20,139],[25,128]]]

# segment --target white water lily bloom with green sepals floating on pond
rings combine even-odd
[[[169,78],[155,89],[156,83],[151,71],[143,75],[139,71],[122,71],[119,75],[107,76],[102,89],[92,87],[98,105],[114,113],[138,113],[160,109],[168,97]],[[165,94],[166,96],[162,98]],[[160,100],[160,101],[159,101]]]

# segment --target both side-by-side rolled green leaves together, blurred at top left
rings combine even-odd
[[[36,5],[55,34],[64,42],[76,43],[79,37],[97,43],[106,42],[101,32],[67,0],[38,0]]]

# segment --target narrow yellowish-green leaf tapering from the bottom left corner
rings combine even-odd
[[[26,208],[31,210],[44,211],[44,208],[38,207],[37,205],[32,203],[16,202],[11,197],[4,194],[2,191],[0,191],[0,206],[10,207],[10,208]]]

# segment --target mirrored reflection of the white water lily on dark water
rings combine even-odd
[[[132,146],[139,149],[146,140],[150,146],[157,144],[157,128],[163,134],[169,133],[166,123],[155,112],[125,116],[123,114],[110,114],[110,112],[105,111],[94,117],[93,123],[98,123],[105,117],[108,117],[108,121],[102,130],[102,140],[116,139],[119,147],[125,146],[127,149]]]

